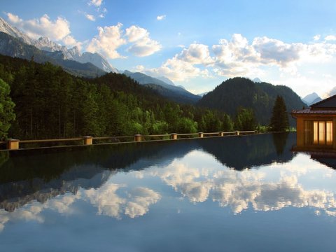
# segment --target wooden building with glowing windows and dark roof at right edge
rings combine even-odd
[[[309,109],[292,111],[296,118],[297,147],[336,149],[336,95],[317,102]]]

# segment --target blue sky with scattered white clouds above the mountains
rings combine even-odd
[[[1,0],[0,9],[33,38],[99,52],[119,70],[195,94],[236,76],[301,97],[336,94],[335,0]]]

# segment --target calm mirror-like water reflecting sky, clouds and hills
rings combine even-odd
[[[0,251],[335,251],[336,160],[263,134],[0,153]]]

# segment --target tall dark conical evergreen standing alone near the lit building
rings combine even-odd
[[[272,118],[269,123],[270,130],[274,132],[284,132],[288,129],[288,113],[283,97],[277,96],[274,102]]]

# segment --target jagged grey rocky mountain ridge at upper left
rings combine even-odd
[[[107,59],[105,59],[102,55],[99,55],[99,53],[97,52],[84,52],[83,54],[81,54],[76,46],[68,49],[64,45],[59,45],[54,41],[50,41],[48,37],[41,37],[37,40],[29,38],[29,36],[24,34],[19,29],[12,27],[2,18],[0,18],[0,31],[10,36],[13,36],[14,38],[18,38],[20,41],[26,43],[27,45],[34,45],[40,50],[48,52],[60,51],[62,52],[63,59],[69,59],[80,63],[91,63],[94,66],[97,66],[99,69],[102,69],[103,71],[118,73],[118,70],[111,66]],[[49,56],[52,57],[52,55]],[[59,57],[59,54],[57,54],[57,57]]]

